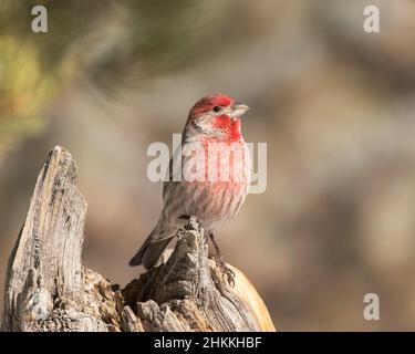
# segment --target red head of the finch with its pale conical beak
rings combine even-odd
[[[191,107],[185,135],[236,142],[241,138],[239,117],[248,110],[246,104],[221,93],[205,96]]]

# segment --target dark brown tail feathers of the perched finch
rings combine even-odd
[[[168,231],[168,232],[166,232]],[[146,269],[151,269],[157,263],[158,258],[175,236],[176,230],[163,228],[163,223],[158,222],[152,233],[144,241],[137,253],[129,261],[129,266],[143,264]]]

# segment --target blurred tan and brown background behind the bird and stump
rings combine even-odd
[[[380,33],[363,31],[367,4]],[[89,201],[84,264],[137,277],[127,261],[162,207],[147,146],[219,91],[252,107],[246,140],[268,143],[268,188],[219,241],[276,326],[415,330],[414,33],[411,0],[2,0],[0,292],[54,145]],[[380,321],[363,319],[369,292]]]

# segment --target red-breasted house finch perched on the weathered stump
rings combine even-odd
[[[190,216],[198,219],[220,256],[214,231],[238,212],[249,187],[250,159],[239,119],[248,108],[219,93],[191,107],[180,150],[175,153],[181,162],[175,168],[170,160],[169,179],[164,183],[163,211],[129,266],[152,268]]]

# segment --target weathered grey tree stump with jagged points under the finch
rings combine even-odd
[[[195,218],[158,267],[120,289],[82,266],[85,214],[75,163],[55,147],[10,256],[3,331],[274,331],[247,278],[232,268],[232,288],[209,259]]]

